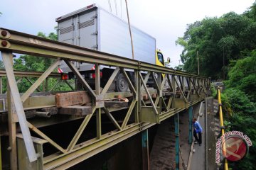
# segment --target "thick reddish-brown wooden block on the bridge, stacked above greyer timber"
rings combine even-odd
[[[90,103],[90,96],[85,91],[75,91],[68,93],[55,94],[55,103],[58,108]]]

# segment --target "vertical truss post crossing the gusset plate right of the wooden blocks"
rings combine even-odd
[[[95,64],[95,94],[100,95],[100,64]],[[97,101],[96,101],[97,106]],[[97,139],[100,139],[102,135],[101,129],[101,108],[97,108],[96,111],[96,124],[97,124]]]

